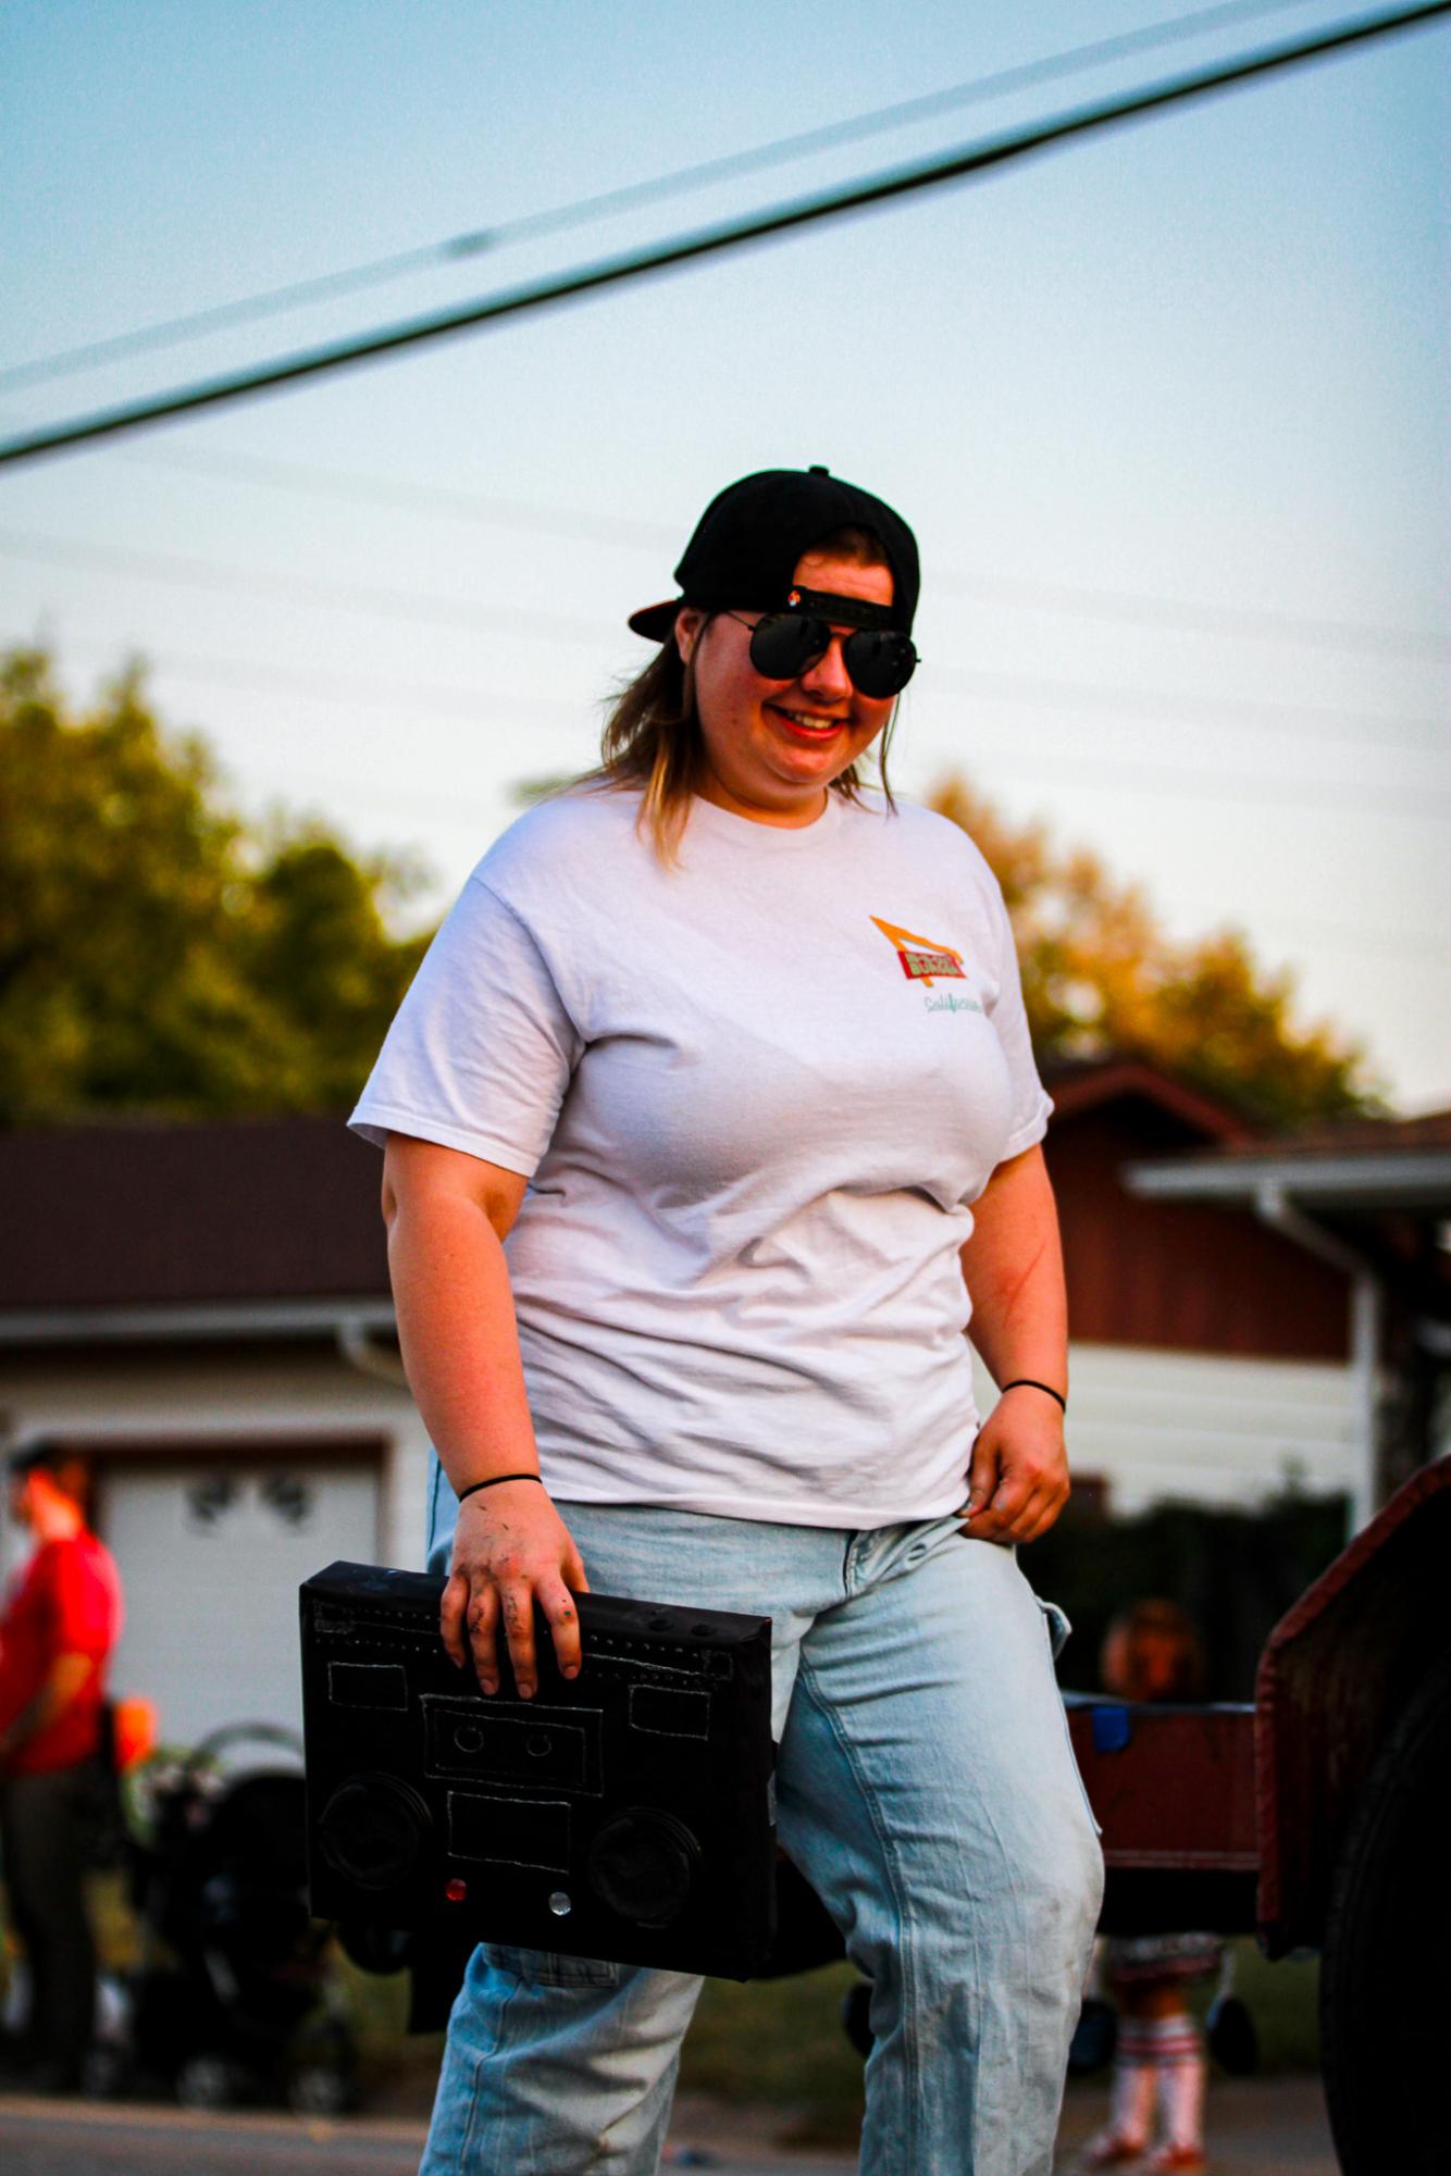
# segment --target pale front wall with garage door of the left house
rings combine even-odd
[[[300,1580],[339,1556],[424,1562],[429,1441],[413,1401],[402,1384],[361,1375],[328,1349],[181,1347],[154,1362],[91,1353],[83,1364],[0,1356],[0,1410],[11,1441],[54,1432],[94,1449],[131,1619],[113,1686],[154,1699],[170,1743],[228,1721],[296,1728]],[[296,1456],[248,1462],[250,1438],[278,1436]],[[328,1438],[348,1436],[381,1438],[381,1467],[328,1449]],[[207,1456],[211,1441],[218,1458]],[[107,1482],[109,1443],[185,1447],[185,1462],[148,1473],[117,1458]],[[213,1536],[196,1497],[209,1475],[235,1484]],[[276,1514],[278,1478],[296,1484],[296,1517]],[[0,1532],[7,1571],[26,1551],[28,1536]]]

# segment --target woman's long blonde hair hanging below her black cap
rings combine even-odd
[[[811,548],[857,566],[885,566],[890,559],[868,529],[835,529]],[[700,633],[709,627],[707,614]],[[877,775],[888,807],[894,807],[888,786],[888,742],[896,725],[896,705],[877,749]],[[627,681],[616,696],[600,735],[600,764],[581,783],[616,790],[640,790],[640,827],[650,833],[657,857],[670,866],[681,846],[690,801],[705,770],[705,742],[696,712],[694,657],[685,662],[674,642],[674,629],[644,672]],[[861,768],[851,764],[831,781],[842,801],[861,799]]]

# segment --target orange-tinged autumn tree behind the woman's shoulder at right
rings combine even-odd
[[[1266,975],[1240,931],[1170,942],[1092,853],[1014,829],[959,777],[931,805],[1003,886],[1040,1058],[1144,1058],[1266,1127],[1384,1108],[1366,1053],[1329,1025],[1299,1027],[1292,975]]]

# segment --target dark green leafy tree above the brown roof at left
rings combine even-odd
[[[241,823],[139,668],[67,716],[0,659],[0,1123],[322,1110],[361,1086],[424,938],[320,825]]]

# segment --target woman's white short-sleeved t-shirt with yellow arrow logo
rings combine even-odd
[[[352,1114],[529,1177],[507,1240],[546,1486],[794,1525],[955,1510],[957,1249],[1051,1110],[972,842],[879,796],[781,829],[633,792],[522,816]]]

